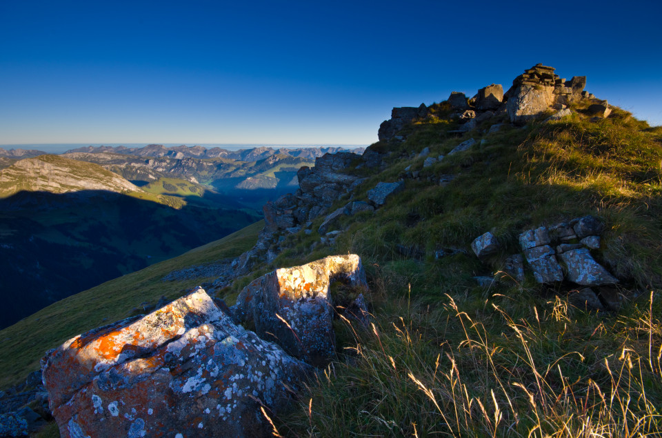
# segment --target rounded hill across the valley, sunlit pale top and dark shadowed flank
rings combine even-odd
[[[0,170],[0,297],[26,290],[0,310],[0,327],[260,217],[199,184],[158,181],[142,190],[97,164],[57,155]]]

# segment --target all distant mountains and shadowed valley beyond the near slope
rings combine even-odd
[[[261,219],[301,166],[340,150],[0,149],[0,328]]]

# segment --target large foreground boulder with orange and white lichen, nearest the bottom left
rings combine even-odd
[[[236,326],[199,288],[150,315],[47,353],[43,381],[63,437],[269,436],[308,366]]]

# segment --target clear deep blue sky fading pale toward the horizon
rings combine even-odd
[[[507,89],[539,62],[659,125],[661,16],[636,0],[0,0],[0,144],[369,144],[393,106]]]

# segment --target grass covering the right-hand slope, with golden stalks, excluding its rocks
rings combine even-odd
[[[454,128],[443,118],[448,111],[434,110],[441,117],[406,128],[404,143],[372,146],[390,152],[388,166],[370,176],[356,199],[410,165],[421,171],[421,181],[407,180],[374,216],[345,218],[336,248],[310,253],[319,236],[301,233],[288,238],[292,249],[272,263],[358,253],[376,315],[368,331],[337,321],[345,354],[312,384],[299,410],[279,419],[280,432],[659,433],[662,128],[617,109],[591,121],[579,106],[563,121],[505,125],[488,135],[491,120],[458,139],[446,134]],[[415,155],[426,146],[433,157],[448,154],[469,137],[485,142],[425,169]],[[443,174],[457,177],[445,187],[425,181]],[[501,270],[505,257],[519,252],[522,230],[586,214],[608,225],[594,256],[622,279],[626,302],[618,315],[575,308],[568,284],[543,287],[529,276],[485,289],[472,279]],[[488,230],[503,250],[481,263],[469,246]],[[398,244],[426,255],[405,257]],[[468,255],[435,260],[434,250],[442,247]]]

